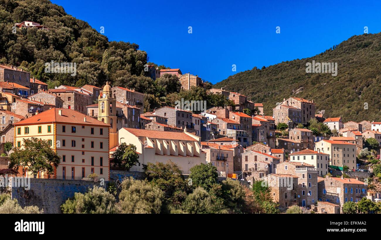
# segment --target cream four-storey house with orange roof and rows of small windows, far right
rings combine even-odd
[[[330,155],[330,165],[342,170],[343,166],[356,169],[356,144],[346,141],[321,140],[315,143],[315,151]]]

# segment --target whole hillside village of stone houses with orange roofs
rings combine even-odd
[[[200,77],[180,69],[150,66],[150,71],[154,79],[175,75],[182,89],[205,87]],[[61,158],[53,175],[41,171],[34,176],[27,167],[2,165],[3,175],[87,180],[96,174],[110,181],[113,154],[125,143],[133,144],[139,157],[130,172],[171,160],[187,175],[195,165],[211,163],[219,177],[249,188],[256,181],[273,184],[272,199],[282,209],[299,205],[340,213],[346,202],[381,199],[381,189],[370,189],[366,182],[379,177],[374,166],[379,164],[381,122],[325,118],[315,112],[319,99],[290,96],[268,116],[262,103],[210,88],[210,94],[223,95],[234,107],[215,106],[200,114],[170,106],[144,112],[144,93],[108,82],[50,89],[22,68],[6,65],[0,65],[0,81],[2,149],[6,142],[22,148],[26,139],[37,137]],[[363,150],[369,154],[363,156]],[[292,187],[281,184],[291,180]]]

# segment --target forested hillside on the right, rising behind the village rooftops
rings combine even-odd
[[[306,73],[306,63],[337,62],[338,75]],[[240,92],[263,103],[272,115],[277,102],[289,96],[314,99],[325,117],[344,121],[381,121],[381,33],[352,36],[310,58],[253,68],[217,83],[215,87]],[[364,109],[367,103],[368,109]]]

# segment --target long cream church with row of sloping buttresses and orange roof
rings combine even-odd
[[[130,171],[143,171],[143,164],[166,163],[171,160],[178,164],[183,174],[190,174],[189,169],[206,163],[206,153],[201,149],[201,137],[186,132],[153,131],[136,128],[122,128],[118,131],[119,143],[125,142],[136,146],[139,163]],[[116,148],[110,150],[115,151]]]

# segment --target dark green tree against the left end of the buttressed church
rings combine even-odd
[[[119,145],[113,154],[114,166],[124,167],[130,170],[131,167],[139,163],[139,155],[136,153],[136,146],[133,144],[126,144],[123,142]]]

